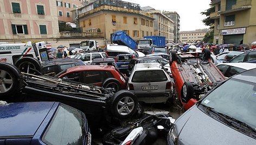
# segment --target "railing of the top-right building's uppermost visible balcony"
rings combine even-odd
[[[222,5],[221,6],[221,12],[225,12],[225,11],[231,11],[231,10],[236,10],[236,9],[248,9],[251,8],[252,6],[252,0],[241,0],[241,1],[236,1],[236,4],[231,6],[231,9],[226,9],[227,5]]]

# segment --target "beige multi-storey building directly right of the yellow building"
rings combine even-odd
[[[165,36],[166,43],[174,42],[174,21],[162,14],[161,11],[155,10],[150,6],[143,7],[142,10],[153,15],[154,35]]]

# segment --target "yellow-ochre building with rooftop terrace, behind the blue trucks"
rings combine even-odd
[[[98,0],[79,8],[78,21],[83,32],[103,32],[105,44],[110,44],[114,31],[124,31],[135,40],[153,35],[152,15],[138,4],[119,0]]]

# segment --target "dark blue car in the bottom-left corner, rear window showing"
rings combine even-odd
[[[91,144],[85,114],[59,102],[0,104],[0,144]]]

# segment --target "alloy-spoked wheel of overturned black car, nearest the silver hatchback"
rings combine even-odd
[[[110,109],[113,117],[120,120],[133,116],[138,109],[137,97],[127,90],[119,90],[110,99]]]

